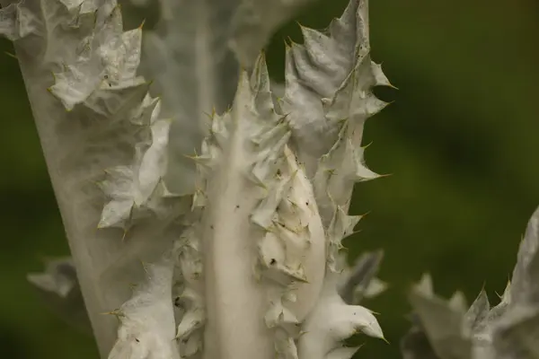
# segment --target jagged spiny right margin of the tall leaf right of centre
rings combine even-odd
[[[321,208],[324,224],[328,226],[328,241],[331,248],[328,260],[333,268],[337,263],[337,253],[342,248],[340,241],[353,232],[353,228],[361,219],[358,215],[347,215],[354,183],[380,177],[365,165],[365,147],[360,146],[365,119],[375,115],[387,105],[370,92],[375,85],[389,84],[384,80],[385,76],[380,80],[383,74],[376,74],[378,67],[373,65],[368,55],[358,57],[358,65],[333,98],[323,101],[325,117],[329,121],[335,121],[339,128],[337,141],[320,159],[314,174],[317,202]],[[354,103],[358,101],[363,103]],[[355,113],[357,109],[365,112]],[[329,218],[331,222],[327,223]]]

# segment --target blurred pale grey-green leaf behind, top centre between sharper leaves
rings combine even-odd
[[[144,31],[141,69],[154,80],[152,93],[163,98],[163,115],[172,118],[164,180],[174,193],[194,191],[195,167],[185,155],[200,152],[208,113],[232,105],[236,58],[252,68],[278,25],[311,2],[159,0],[162,16],[155,31]]]

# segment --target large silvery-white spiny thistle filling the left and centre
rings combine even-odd
[[[162,0],[144,34],[116,0],[2,1],[102,357],[343,359],[343,339],[383,338],[353,289],[380,256],[340,250],[390,83],[350,0],[287,45],[278,97],[258,54],[304,3]],[[70,293],[61,263],[31,281]]]

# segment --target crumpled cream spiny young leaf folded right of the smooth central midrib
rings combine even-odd
[[[304,193],[297,189],[305,174],[292,153],[286,149],[283,155],[288,157],[280,169],[280,181],[270,188],[267,197],[270,201],[261,202],[252,215],[252,222],[263,225],[266,232],[259,242],[259,273],[277,285],[270,297],[266,325],[275,329],[279,358],[292,359],[297,358],[295,341],[302,334],[305,315],[314,308],[323,280],[324,266],[320,262],[317,263],[318,270],[313,270],[313,266],[305,267],[309,259],[319,257],[323,261],[325,243],[322,223],[319,223],[318,232],[316,223],[312,223],[313,218],[318,217],[314,197],[312,194],[304,197]],[[273,213],[267,210],[268,206],[275,206]],[[296,291],[302,286],[313,287],[310,293],[313,297],[303,295],[298,298],[301,293]],[[296,302],[305,307],[298,309]]]

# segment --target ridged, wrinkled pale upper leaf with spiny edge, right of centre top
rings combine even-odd
[[[384,108],[372,87],[390,83],[370,59],[367,3],[350,1],[327,31],[302,27],[305,43],[287,48],[283,109],[290,112],[298,158],[309,176],[337,141],[343,120],[358,147],[365,119]]]

